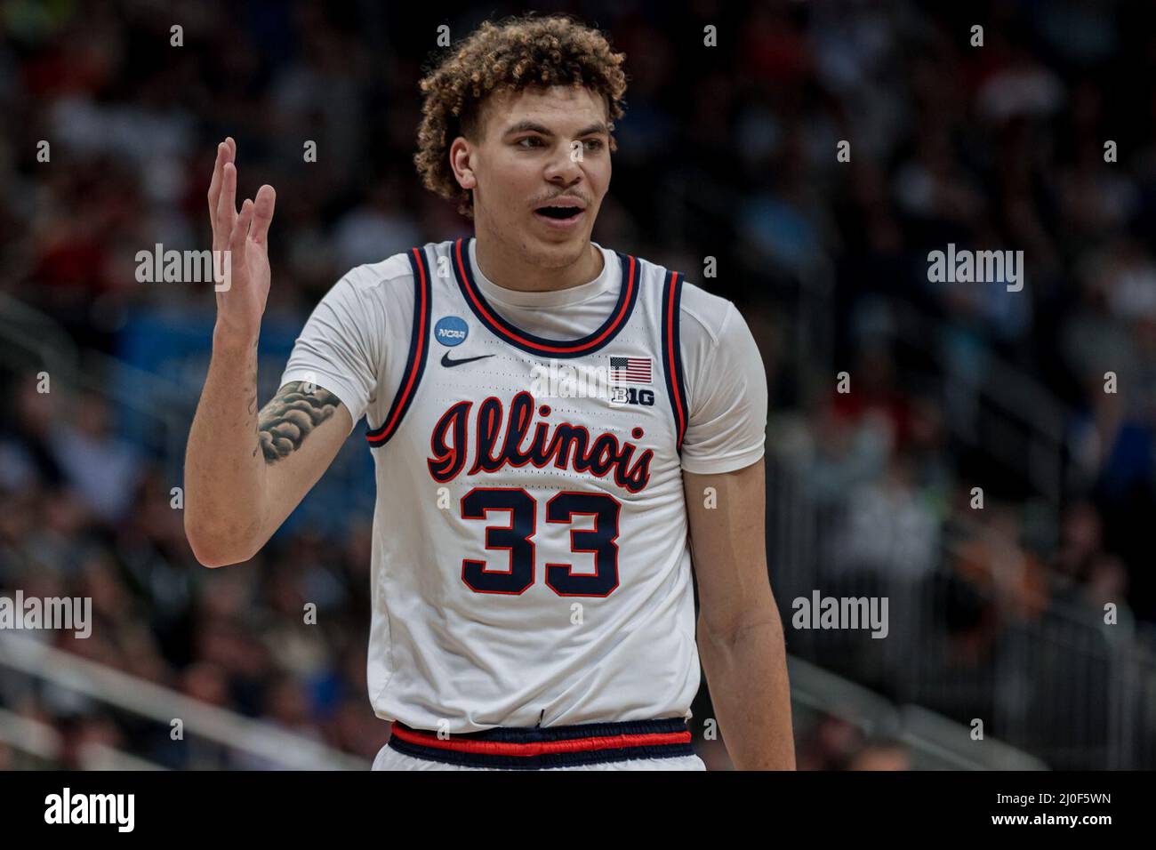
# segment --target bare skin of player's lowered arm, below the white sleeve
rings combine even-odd
[[[683,489],[698,653],[731,761],[740,770],[793,770],[786,646],[766,571],[763,460],[736,472],[683,473]]]

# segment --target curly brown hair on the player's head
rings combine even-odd
[[[414,163],[422,183],[443,198],[458,198],[458,210],[473,217],[473,193],[454,179],[450,145],[459,135],[476,138],[482,102],[495,91],[531,86],[585,87],[602,96],[613,130],[623,114],[623,61],[625,54],[615,53],[601,32],[565,16],[484,22],[421,81],[424,103]]]

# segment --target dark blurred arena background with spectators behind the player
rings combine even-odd
[[[251,563],[202,568],[214,296],[138,256],[210,247],[234,136],[242,197],[279,199],[264,404],[350,267],[469,232],[415,173],[416,84],[524,9],[412,6],[0,0],[0,596],[92,606],[0,629],[0,769],[356,770],[387,739],[364,421]],[[799,768],[1156,767],[1149,3],[536,10],[627,53],[595,241],[762,350]],[[827,597],[885,599],[885,634],[813,628]],[[705,685],[694,711],[729,769]]]

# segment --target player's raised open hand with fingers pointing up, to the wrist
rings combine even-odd
[[[209,184],[209,221],[214,252],[228,258],[218,263],[217,325],[246,339],[257,339],[269,296],[269,222],[276,192],[264,185],[257,200],[246,198],[237,210],[237,143],[230,138],[217,146]]]

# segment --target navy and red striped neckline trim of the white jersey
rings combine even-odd
[[[473,237],[469,241],[473,242]],[[553,357],[580,357],[586,354],[593,354],[617,335],[618,331],[622,330],[630,318],[635,302],[638,300],[638,260],[615,251],[614,253],[622,264],[622,282],[618,286],[618,300],[601,326],[576,340],[553,340],[535,337],[504,319],[486,300],[486,295],[474,280],[473,264],[469,263],[469,246],[464,243],[465,239],[461,238],[453,243],[453,272],[466,304],[469,305],[470,311],[477,317],[477,320],[486,325],[492,333],[516,348],[520,348],[529,354],[550,355]]]

